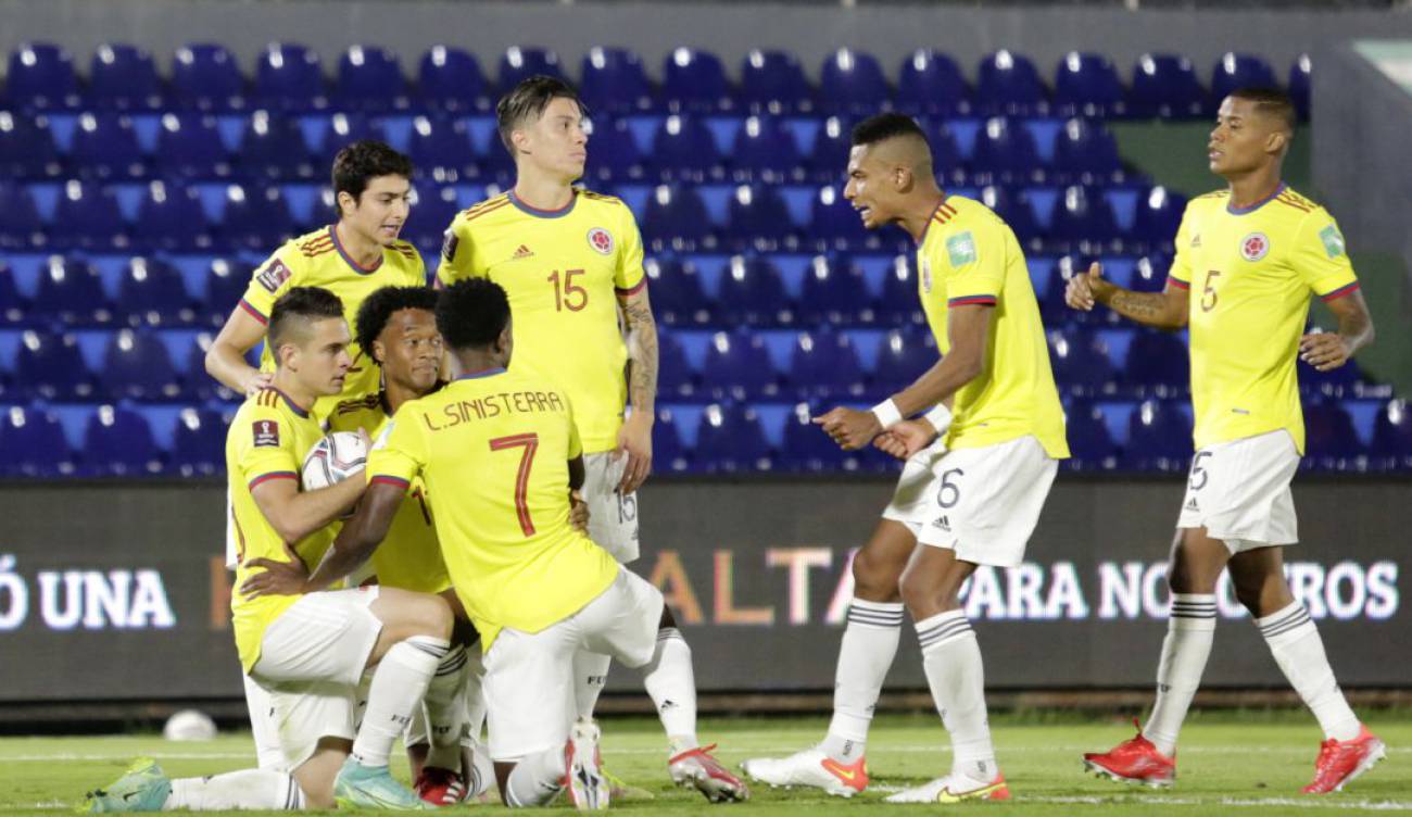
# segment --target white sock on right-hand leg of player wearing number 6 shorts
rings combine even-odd
[[[990,783],[998,769],[986,714],[986,667],[966,611],[916,622],[916,640],[922,645],[926,686],[952,736],[952,775]]]

